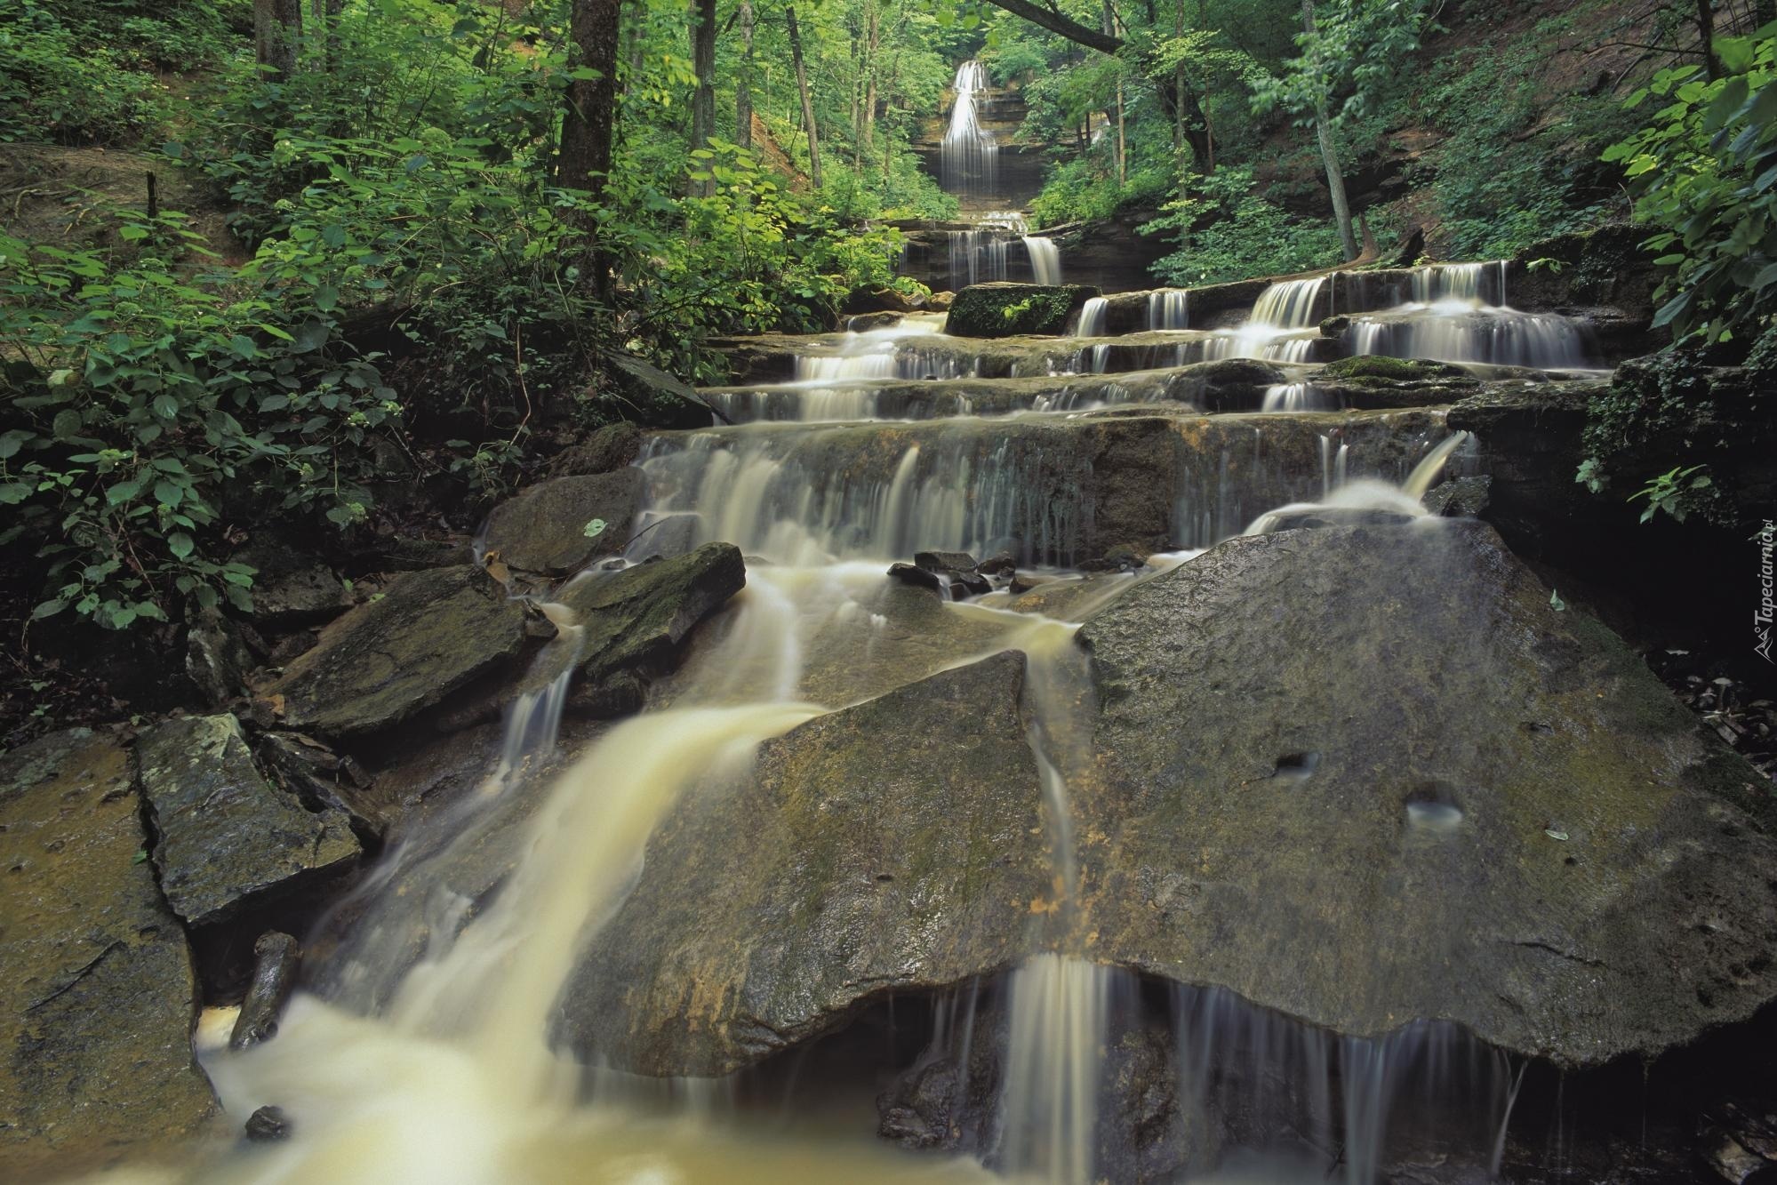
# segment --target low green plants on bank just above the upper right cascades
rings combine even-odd
[[[1144,233],[1176,235],[1178,251],[1153,265],[1167,284],[1219,284],[1253,275],[1288,275],[1340,261],[1338,231],[1292,219],[1253,192],[1251,169],[1194,178]]]

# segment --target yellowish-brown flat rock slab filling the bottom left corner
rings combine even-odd
[[[84,728],[0,757],[0,1176],[153,1155],[215,1100],[197,982],[155,888],[130,755]]]

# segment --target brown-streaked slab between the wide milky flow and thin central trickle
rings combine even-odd
[[[871,997],[1015,961],[1050,894],[1022,675],[1016,652],[933,675],[686,796],[581,958],[565,1036],[626,1070],[727,1073]]]

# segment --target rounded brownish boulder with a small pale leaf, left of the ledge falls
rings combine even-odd
[[[567,576],[624,549],[641,503],[641,471],[622,467],[551,478],[508,497],[487,517],[487,553],[506,567]]]

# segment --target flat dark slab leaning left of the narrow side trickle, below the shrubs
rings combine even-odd
[[[379,732],[515,657],[524,606],[478,565],[409,572],[359,606],[267,691],[284,725],[322,736]]]

